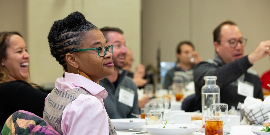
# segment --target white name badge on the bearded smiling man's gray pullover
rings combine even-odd
[[[120,103],[133,107],[135,92],[131,89],[120,86],[119,99]]]

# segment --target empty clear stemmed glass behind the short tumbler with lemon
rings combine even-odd
[[[164,115],[165,111],[165,105],[164,101],[151,101],[149,102],[149,112],[150,113],[162,113],[162,116]]]

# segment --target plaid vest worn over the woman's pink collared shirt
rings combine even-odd
[[[66,91],[60,91],[56,88],[50,93],[47,103],[45,104],[45,109],[43,112],[43,119],[46,120],[56,131],[60,134],[62,133],[61,130],[61,121],[64,109],[77,99],[79,95],[91,95],[84,89],[71,89]],[[108,116],[109,120],[109,135],[117,135],[115,127],[111,124],[111,120]]]

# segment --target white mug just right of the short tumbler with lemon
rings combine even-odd
[[[175,113],[170,117],[170,119],[174,119],[175,124],[191,124],[190,113]]]

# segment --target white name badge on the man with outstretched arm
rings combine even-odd
[[[245,97],[253,97],[254,95],[254,85],[249,82],[238,82],[238,91],[239,95]]]

